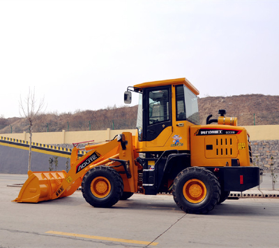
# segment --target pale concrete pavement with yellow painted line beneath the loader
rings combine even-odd
[[[226,200],[186,214],[172,196],[134,195],[94,208],[80,191],[43,203],[13,203],[25,175],[0,175],[0,247],[278,247],[279,199]]]

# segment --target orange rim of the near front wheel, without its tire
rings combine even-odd
[[[98,198],[105,198],[110,194],[111,189],[110,181],[105,177],[96,177],[91,182],[91,192]]]

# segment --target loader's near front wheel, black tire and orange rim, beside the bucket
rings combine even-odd
[[[82,195],[93,207],[112,207],[123,193],[123,180],[119,173],[107,166],[96,166],[82,180]]]

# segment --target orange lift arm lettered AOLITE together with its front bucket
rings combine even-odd
[[[29,170],[29,178],[14,201],[38,203],[43,200],[70,196],[81,186],[82,179],[89,170],[112,161],[112,167],[119,173],[123,173],[121,177],[125,183],[126,191],[135,192],[137,185],[130,174],[135,169],[133,168],[133,141],[130,133],[125,134],[123,133],[121,139],[115,139],[99,146],[93,145],[93,149],[89,150],[80,159],[75,156],[78,149],[74,147],[70,161],[71,168],[68,173],[64,170],[55,172],[32,172]],[[123,149],[123,139],[125,150]],[[90,146],[86,149],[90,149]],[[132,166],[130,166],[130,161]]]

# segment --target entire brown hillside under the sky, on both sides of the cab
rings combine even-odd
[[[279,124],[279,96],[247,94],[240,96],[208,96],[199,99],[200,124],[206,117],[218,118],[218,110],[227,110],[227,117],[238,117],[239,126]],[[73,113],[47,113],[33,124],[33,132],[89,131],[104,129],[135,129],[137,106],[108,107],[101,110],[77,110]],[[22,133],[28,130],[24,118],[0,118],[0,133]]]

